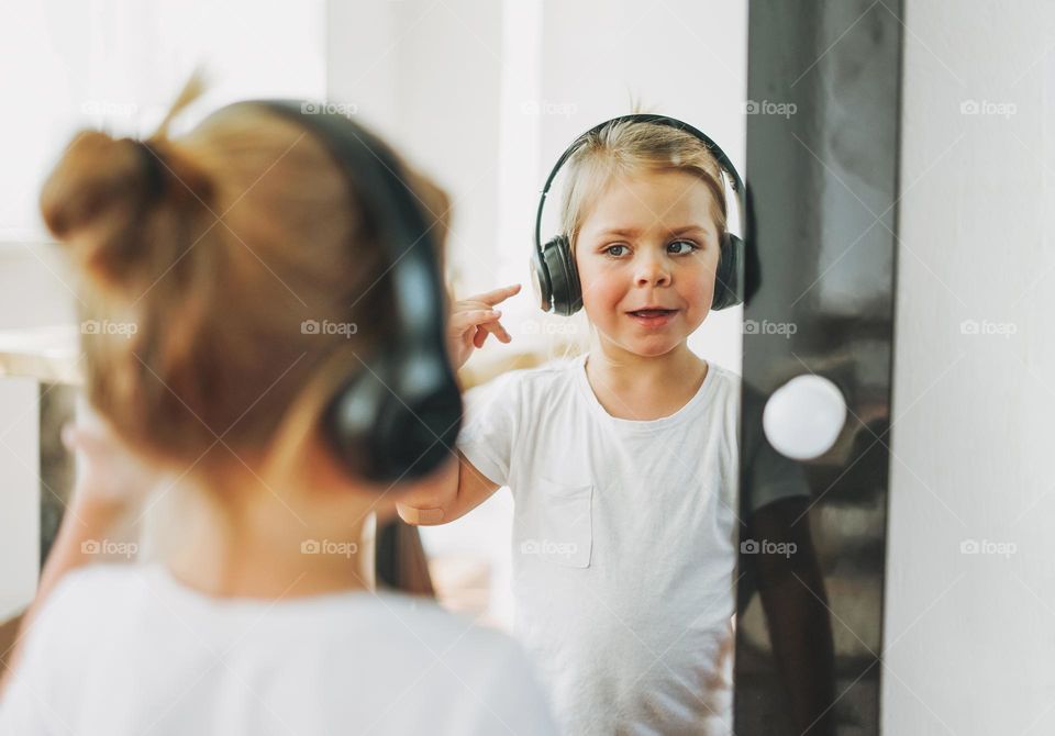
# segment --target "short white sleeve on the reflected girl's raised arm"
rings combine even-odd
[[[465,393],[466,421],[457,448],[488,480],[509,486],[522,403],[522,371],[503,373]]]

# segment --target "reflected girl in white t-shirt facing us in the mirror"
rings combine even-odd
[[[622,121],[566,170],[589,350],[474,397],[458,482],[399,511],[446,523],[511,489],[515,628],[563,733],[729,733],[740,381],[687,343],[726,226],[719,166],[688,133]],[[756,506],[804,492],[774,462]]]

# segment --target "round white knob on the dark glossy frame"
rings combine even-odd
[[[774,448],[795,460],[826,453],[846,422],[846,402],[832,381],[796,376],[773,392],[762,414],[762,427]]]

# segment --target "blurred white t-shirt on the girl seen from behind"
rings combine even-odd
[[[69,573],[32,627],[0,734],[552,734],[519,646],[430,601],[215,599],[162,565]]]

